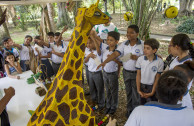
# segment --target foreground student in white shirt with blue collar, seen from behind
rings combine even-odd
[[[136,107],[125,126],[194,126],[194,111],[177,104],[187,91],[187,83],[182,71],[165,72],[156,87],[158,102]]]

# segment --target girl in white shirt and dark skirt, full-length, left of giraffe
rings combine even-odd
[[[43,84],[46,84],[45,83],[46,78],[48,80],[47,83],[51,83],[51,77],[54,75],[54,72],[48,58],[51,57],[50,52],[52,51],[52,49],[47,48],[46,46],[43,46],[44,43],[42,42],[40,36],[36,36],[34,39],[34,42],[35,44],[38,45],[38,46],[37,45],[34,46],[34,54],[38,56],[38,58],[41,61],[41,63],[39,62],[39,65],[43,64],[41,66],[41,70],[43,72],[41,79],[43,80]]]

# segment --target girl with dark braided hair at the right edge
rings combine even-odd
[[[194,58],[194,49],[190,38],[186,34],[177,34],[172,37],[169,44],[170,53],[175,59],[170,63],[170,70],[176,65],[183,64]]]

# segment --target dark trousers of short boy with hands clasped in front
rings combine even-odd
[[[144,93],[151,93],[152,92],[153,85],[147,85],[141,83],[141,91]],[[149,101],[158,101],[155,94],[149,98],[141,98],[141,105],[144,105],[146,102]]]

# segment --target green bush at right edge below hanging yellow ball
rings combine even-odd
[[[177,32],[194,34],[194,19],[188,19],[176,28]]]

